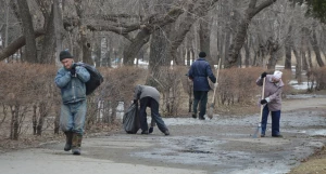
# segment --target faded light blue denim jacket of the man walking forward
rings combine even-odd
[[[61,89],[63,104],[76,103],[86,99],[86,85],[90,75],[82,66],[76,66],[77,77],[72,77],[70,70],[60,68],[54,79],[55,84]]]

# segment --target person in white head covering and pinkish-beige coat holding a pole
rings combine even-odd
[[[265,80],[264,99],[261,99],[261,105],[265,105],[262,116],[262,137],[265,136],[267,119],[272,113],[272,136],[283,137],[279,133],[279,120],[281,109],[281,91],[284,82],[281,81],[281,71],[275,70],[273,75],[263,72],[256,80],[256,84],[262,86]]]

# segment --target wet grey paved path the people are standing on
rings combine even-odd
[[[314,103],[317,109],[304,101],[296,106],[285,104],[280,121],[284,138],[271,137],[271,124],[266,137],[253,138],[259,115],[215,115],[204,121],[171,118],[164,119],[171,136],[158,128],[151,135],[121,130],[85,138],[79,157],[63,151],[64,143],[3,153],[0,173],[287,173],[326,143],[325,99]]]

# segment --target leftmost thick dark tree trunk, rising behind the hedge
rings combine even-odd
[[[29,13],[27,0],[17,1],[20,14],[23,22],[23,34],[26,40],[25,57],[28,63],[37,63],[36,41],[33,27],[33,19]]]

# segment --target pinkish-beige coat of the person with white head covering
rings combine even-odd
[[[277,111],[281,110],[281,91],[284,82],[280,79],[279,82],[274,83],[272,82],[272,77],[273,75],[267,75],[265,78],[264,98],[268,102],[267,106],[269,111]],[[255,83],[259,86],[263,86],[263,79],[260,77]]]

